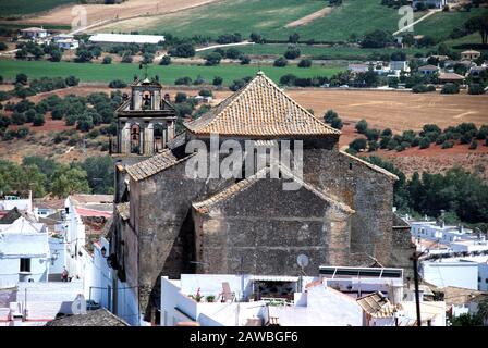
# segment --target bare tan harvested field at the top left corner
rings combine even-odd
[[[86,9],[87,24],[112,18],[123,20],[138,15],[156,15],[191,9],[217,0],[129,0],[120,4],[83,4]],[[19,21],[22,24],[71,25],[75,4],[56,8],[47,13]],[[9,22],[15,23],[15,22]]]

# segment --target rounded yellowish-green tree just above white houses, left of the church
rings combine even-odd
[[[83,169],[60,164],[52,175],[52,194],[65,198],[73,194],[90,194],[87,173]]]

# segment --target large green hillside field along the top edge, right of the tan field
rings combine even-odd
[[[284,26],[324,9],[322,0],[222,0],[197,9],[144,20],[129,20],[103,28],[105,32],[138,30],[144,34],[172,33],[179,37],[205,35],[216,38],[221,34],[241,33],[248,36],[259,33],[268,39],[288,39],[298,33],[301,39],[317,41],[345,41],[352,34],[362,36],[375,29],[391,33],[399,29],[398,10],[380,4],[380,0],[344,0],[343,5],[321,18],[294,28]],[[471,12],[440,12],[415,26],[414,34],[428,34],[446,38],[454,27],[486,9]],[[416,12],[415,18],[425,12]]]

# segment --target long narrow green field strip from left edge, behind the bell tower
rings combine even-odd
[[[264,66],[263,71],[274,82],[278,82],[285,74],[295,74],[300,77],[313,76],[331,76],[345,66],[321,67],[313,66],[310,69],[300,69],[297,66],[273,67]],[[166,85],[174,84],[179,77],[188,76],[195,79],[198,75],[207,82],[211,82],[215,76],[223,78],[224,84],[230,84],[234,79],[245,76],[253,76],[257,72],[254,65],[218,65],[218,66],[199,66],[199,65],[149,65],[148,74],[158,75],[160,80]],[[51,63],[48,61],[0,61],[0,75],[3,78],[12,79],[16,74],[24,73],[30,78],[42,76],[69,76],[74,75],[82,82],[100,82],[109,83],[113,79],[123,79],[131,82],[134,74],[141,74],[141,70],[136,64],[94,64],[94,63]]]

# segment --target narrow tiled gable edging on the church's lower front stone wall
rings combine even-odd
[[[302,179],[300,179],[297,176],[293,175],[292,172],[288,171],[286,169],[280,166],[281,173],[283,173],[284,177],[293,177],[293,179],[302,185],[302,187],[308,189],[309,191],[314,192],[316,196],[318,196],[320,199],[338,207],[340,210],[344,211],[345,213],[354,213],[355,211],[351,209],[347,204],[342,203],[330,196],[326,195],[325,192],[318,190],[314,186],[304,183]],[[267,174],[270,172],[269,167],[265,167],[257,172],[255,175],[249,176],[248,178],[245,178],[234,185],[231,185],[230,187],[221,190],[217,195],[200,201],[193,203],[193,207],[200,213],[208,213],[210,208],[213,207],[217,203],[223,202],[228,199],[231,199],[235,195],[245,191],[247,188],[252,187],[255,183],[257,183],[260,178],[266,177]]]

